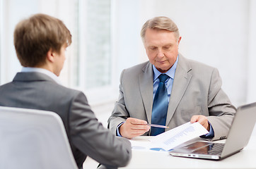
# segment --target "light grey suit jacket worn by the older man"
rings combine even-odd
[[[147,61],[122,71],[120,96],[108,119],[108,127],[116,134],[117,125],[129,117],[151,123],[152,105],[153,68]],[[166,119],[170,128],[166,130],[189,122],[192,115],[205,115],[214,129],[212,140],[224,139],[235,111],[221,89],[218,70],[179,54]],[[149,132],[144,135],[149,135]]]

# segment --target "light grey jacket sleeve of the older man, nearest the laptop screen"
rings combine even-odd
[[[216,69],[211,75],[208,110],[210,116],[207,118],[214,129],[212,140],[225,139],[231,127],[236,108],[221,89],[221,77]]]

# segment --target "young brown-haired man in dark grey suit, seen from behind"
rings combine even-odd
[[[90,156],[107,168],[127,165],[131,144],[117,138],[97,118],[86,96],[59,84],[71,34],[64,23],[37,14],[18,23],[14,45],[23,69],[13,82],[0,87],[0,106],[33,108],[57,113],[63,120],[78,168]]]

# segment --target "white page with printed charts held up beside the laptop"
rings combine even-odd
[[[149,141],[152,145],[168,151],[190,139],[207,133],[209,132],[199,123],[188,122],[155,137],[151,137]]]

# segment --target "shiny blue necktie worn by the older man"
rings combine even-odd
[[[153,99],[151,123],[156,125],[165,125],[168,111],[168,94],[165,87],[165,81],[168,79],[168,75],[161,74],[158,78],[160,82],[158,89],[156,90],[155,98]],[[151,136],[156,136],[162,132],[165,132],[164,128],[151,127]]]

